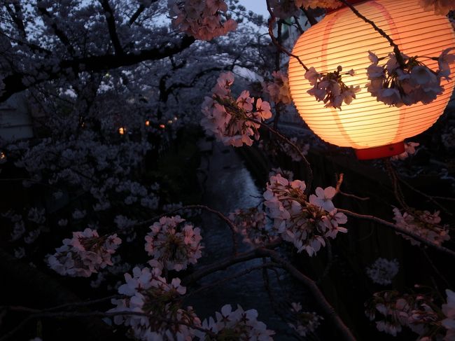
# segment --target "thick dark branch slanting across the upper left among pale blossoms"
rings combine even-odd
[[[32,83],[25,85],[23,81],[27,77],[25,74],[11,74],[3,78],[5,88],[0,95],[0,103],[6,101],[11,95],[16,92],[21,92],[31,86],[43,83],[44,81],[52,81],[58,78],[71,76],[72,70],[76,71],[108,71],[117,69],[118,67],[127,67],[130,65],[145,62],[147,60],[161,60],[163,58],[175,55],[188,48],[195,39],[190,36],[183,36],[179,44],[172,46],[151,48],[141,50],[139,53],[127,53],[125,55],[101,55],[85,58],[76,58],[73,60],[63,60],[59,63],[59,71],[53,71],[52,67],[37,67],[38,72],[48,74],[47,79],[36,79]],[[69,71],[68,71],[69,70]]]

